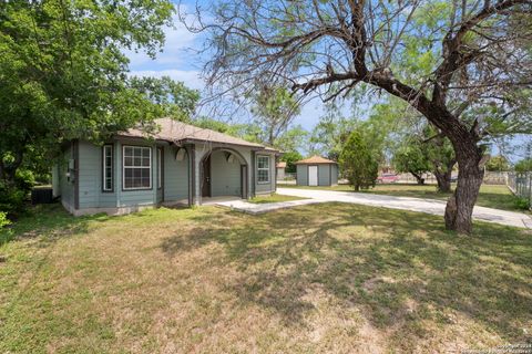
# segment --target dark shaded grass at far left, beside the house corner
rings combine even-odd
[[[14,239],[39,237],[39,247],[48,247],[55,240],[74,233],[88,232],[89,221],[105,221],[105,215],[74,217],[59,204],[38,205],[28,215],[0,230],[0,246]]]

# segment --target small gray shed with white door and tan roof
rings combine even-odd
[[[298,186],[335,186],[338,184],[338,164],[321,156],[296,163]]]

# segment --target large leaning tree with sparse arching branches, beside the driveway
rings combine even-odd
[[[483,140],[530,129],[531,8],[532,0],[223,0],[212,22],[192,30],[209,33],[208,82],[233,92],[260,77],[327,102],[360,84],[403,100],[453,146],[459,177],[446,227],[469,233]]]

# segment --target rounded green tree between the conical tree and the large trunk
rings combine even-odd
[[[399,173],[411,174],[418,185],[424,185],[423,174],[431,170],[426,147],[418,139],[408,139],[393,155],[393,167]]]

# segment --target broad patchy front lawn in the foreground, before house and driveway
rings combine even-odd
[[[532,331],[532,236],[346,204],[74,218],[0,247],[0,353],[442,353]]]

